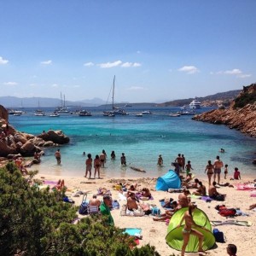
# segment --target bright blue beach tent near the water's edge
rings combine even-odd
[[[158,177],[155,189],[167,191],[168,189],[180,189],[181,188],[181,181],[180,178],[177,176],[177,173],[173,170],[169,170],[164,176]]]

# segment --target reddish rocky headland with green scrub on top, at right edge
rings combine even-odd
[[[251,137],[256,137],[256,84],[244,86],[230,108],[196,114],[193,119],[215,125],[228,125]]]

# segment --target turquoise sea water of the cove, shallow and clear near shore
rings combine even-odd
[[[24,109],[21,116],[9,116],[9,123],[18,131],[38,135],[42,131],[62,130],[71,141],[61,145],[61,166],[57,166],[54,153],[56,148],[45,148],[39,172],[63,176],[84,176],[86,154],[101,154],[105,149],[108,154],[102,177],[158,177],[171,169],[171,163],[177,154],[184,154],[186,161],[191,160],[194,172],[203,173],[207,160],[215,160],[220,155],[224,164],[229,165],[230,174],[238,167],[247,175],[256,174],[252,160],[256,152],[256,139],[247,137],[224,125],[211,125],[197,122],[190,115],[170,117],[168,113],[179,108],[149,108],[153,114],[136,117],[135,113],[148,108],[126,108],[130,115],[104,117],[102,108],[87,108],[91,117],[79,117],[63,113],[58,118],[35,116],[33,108]],[[46,113],[53,109],[44,108]],[[74,109],[70,109],[73,111]],[[207,111],[200,109],[198,112]],[[224,148],[225,153],[219,153]],[[110,160],[114,150],[116,160]],[[120,155],[126,155],[127,166],[120,166]],[[158,155],[162,154],[164,166],[156,165]],[[147,171],[132,171],[129,166],[137,166]]]

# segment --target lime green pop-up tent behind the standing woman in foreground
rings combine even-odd
[[[183,247],[183,226],[182,224],[180,227],[177,228],[177,226],[180,224],[181,219],[183,218],[184,212],[188,211],[188,207],[181,208],[177,212],[175,212],[172,215],[172,218],[170,220],[168,230],[167,230],[167,236],[166,236],[166,243],[180,251]],[[204,241],[203,241],[203,249],[208,250],[213,247],[215,243],[215,238],[212,234],[212,226],[210,224],[209,218],[207,217],[207,214],[200,209],[195,209],[195,212],[193,213],[193,219],[195,221],[195,224],[198,224],[204,229],[201,229],[199,227],[193,227],[193,229],[200,231],[204,235]],[[195,253],[198,251],[198,238],[196,236],[190,235],[189,237],[189,243],[186,247],[186,252],[188,253]]]

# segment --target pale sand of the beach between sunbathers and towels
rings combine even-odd
[[[36,166],[33,168],[36,169]],[[49,173],[49,172],[45,172]],[[222,174],[224,175],[224,174]],[[120,211],[122,205],[125,204],[125,201],[121,201],[119,199],[119,192],[113,189],[114,183],[126,182],[126,183],[138,183],[138,189],[143,189],[143,187],[148,187],[150,189],[151,194],[154,197],[154,200],[150,201],[141,201],[143,203],[148,203],[150,205],[156,205],[160,208],[161,212],[165,210],[160,207],[160,199],[170,198],[172,197],[174,200],[177,200],[178,193],[168,193],[164,191],[155,191],[155,181],[156,178],[148,178],[147,174],[142,177],[136,177],[136,173],[134,177],[125,177],[123,179],[114,178],[114,177],[103,177],[102,179],[88,179],[85,177],[60,177],[60,176],[52,176],[49,174],[44,174],[44,172],[39,172],[36,176],[41,180],[49,180],[49,181],[58,181],[60,178],[65,180],[65,185],[67,186],[67,195],[75,201],[75,205],[79,206],[83,195],[79,197],[74,197],[76,191],[86,191],[88,193],[88,199],[92,197],[93,194],[96,194],[97,189],[106,188],[109,189],[112,193],[113,200],[119,201],[120,208],[119,210],[114,209],[112,211],[114,224],[119,228],[140,228],[142,229],[143,239],[140,240],[139,246],[143,246],[145,244],[150,244],[151,246],[156,247],[156,250],[160,253],[160,255],[167,256],[172,253],[175,255],[180,255],[180,252],[172,249],[166,244],[166,234],[167,234],[167,225],[166,222],[156,222],[153,220],[152,215],[145,215],[143,217],[131,217],[131,216],[121,216]],[[199,178],[204,184],[207,185],[207,177],[204,175]],[[252,177],[242,177],[241,181],[230,181],[229,179],[224,180],[222,177],[221,182],[229,182],[231,184],[236,183],[245,183],[248,181],[253,181]],[[190,189],[193,192],[193,189]],[[252,222],[251,226],[240,226],[235,224],[224,224],[218,225],[216,228],[218,230],[224,232],[225,243],[216,243],[211,250],[207,251],[207,255],[227,255],[226,247],[229,243],[236,244],[238,248],[237,255],[254,255],[256,252],[256,212],[253,210],[248,210],[248,207],[252,204],[256,203],[256,197],[251,197],[251,191],[245,190],[236,190],[235,188],[230,187],[220,187],[218,191],[221,194],[226,194],[226,199],[224,202],[222,201],[212,201],[206,202],[200,199],[192,199],[196,205],[204,212],[207,213],[210,221],[224,221],[227,219],[235,219],[235,220],[247,220]],[[102,196],[98,196],[99,199],[102,200]],[[218,211],[214,208],[217,205],[224,204],[226,207],[234,207],[240,208],[242,212],[247,212],[249,216],[236,216],[235,218],[225,218],[218,214]],[[79,218],[84,218],[82,215],[79,215]],[[86,217],[85,217],[86,218]],[[212,227],[214,228],[214,227]],[[186,253],[186,255],[199,255],[198,253]]]

